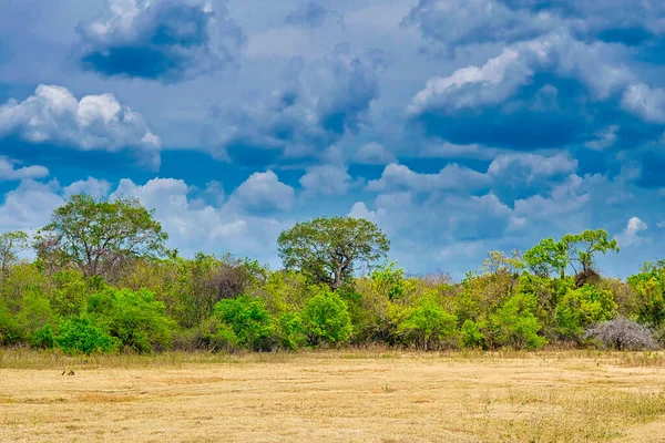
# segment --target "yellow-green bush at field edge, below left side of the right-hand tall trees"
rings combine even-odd
[[[538,332],[541,324],[533,315],[536,301],[532,295],[518,293],[508,299],[490,317],[495,344],[514,349],[538,349],[548,342]]]

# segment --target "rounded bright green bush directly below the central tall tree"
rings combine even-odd
[[[303,327],[310,346],[344,344],[354,330],[348,307],[335,292],[319,293],[307,301]]]

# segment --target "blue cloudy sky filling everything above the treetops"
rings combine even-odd
[[[3,0],[0,230],[136,196],[170,246],[279,266],[376,222],[415,272],[607,229],[664,258],[662,0]]]

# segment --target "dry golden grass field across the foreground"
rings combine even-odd
[[[665,356],[0,351],[0,440],[665,442]]]

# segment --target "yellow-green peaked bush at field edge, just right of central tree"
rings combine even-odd
[[[439,348],[443,341],[453,337],[457,318],[448,313],[433,299],[420,300],[416,308],[409,309],[398,326],[398,332],[405,334],[407,343],[415,343],[424,350]]]

